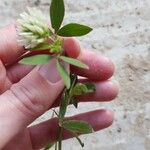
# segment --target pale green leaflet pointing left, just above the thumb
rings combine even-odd
[[[50,55],[45,55],[45,54],[35,55],[35,56],[23,58],[21,61],[19,61],[19,63],[25,65],[39,65],[39,64],[45,64],[51,59],[53,59],[53,57]]]

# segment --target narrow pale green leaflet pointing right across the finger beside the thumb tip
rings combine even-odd
[[[81,61],[77,60],[77,59],[74,59],[74,58],[70,58],[70,57],[65,57],[65,56],[60,56],[59,57],[60,59],[62,59],[63,61],[71,64],[71,65],[74,65],[74,66],[77,66],[79,68],[83,68],[83,69],[88,69],[89,67],[82,63]]]

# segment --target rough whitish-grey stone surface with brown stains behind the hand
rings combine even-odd
[[[48,11],[48,0],[0,0],[0,26],[13,22],[25,6]],[[107,107],[115,111],[110,128],[83,136],[84,150],[150,149],[150,1],[66,0],[65,22],[84,22],[94,31],[82,39],[88,49],[100,51],[116,64],[120,94],[111,103],[81,104],[74,114]],[[50,115],[46,115],[47,116]],[[43,120],[45,115],[39,120]],[[38,120],[38,121],[39,121]],[[75,140],[64,142],[66,150],[80,150]]]

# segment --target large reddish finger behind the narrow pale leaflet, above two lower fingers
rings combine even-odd
[[[78,59],[89,66],[89,69],[80,69],[71,66],[71,71],[91,80],[107,80],[114,73],[114,64],[107,57],[87,50],[81,51]]]

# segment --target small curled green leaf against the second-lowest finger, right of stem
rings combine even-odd
[[[80,96],[83,94],[93,93],[95,92],[95,85],[90,83],[77,83],[73,88],[72,94],[74,96]]]

